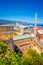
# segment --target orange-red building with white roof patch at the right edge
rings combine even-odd
[[[40,49],[40,52],[43,52],[43,30],[38,28],[37,30],[37,37],[35,38],[35,42]]]

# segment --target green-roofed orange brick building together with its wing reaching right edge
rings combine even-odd
[[[37,40],[38,39],[35,39],[34,34],[13,36],[14,45],[22,51],[23,55],[25,55],[30,48],[36,50],[38,53],[43,52],[43,44],[39,43],[39,40]]]

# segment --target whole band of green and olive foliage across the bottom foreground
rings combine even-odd
[[[0,65],[43,65],[43,53],[39,55],[35,50],[29,49],[27,56],[12,52],[7,44],[0,42]]]

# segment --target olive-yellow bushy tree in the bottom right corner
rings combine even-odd
[[[43,65],[41,56],[36,52],[36,50],[30,49],[28,55],[32,58],[32,65]]]

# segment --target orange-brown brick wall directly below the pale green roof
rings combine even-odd
[[[27,38],[27,39],[22,39],[22,40],[16,40],[14,41],[14,44],[19,47],[19,49],[23,52],[28,51],[29,48],[31,48],[32,45],[32,39],[33,38]]]

